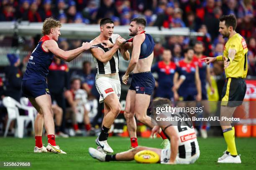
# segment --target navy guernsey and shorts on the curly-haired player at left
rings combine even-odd
[[[49,73],[49,66],[54,54],[44,51],[42,45],[46,40],[50,39],[47,35],[44,35],[28,60],[21,86],[23,95],[26,97],[36,98],[41,95],[50,94],[46,84],[46,75]]]

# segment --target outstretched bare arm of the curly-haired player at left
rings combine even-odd
[[[78,47],[74,50],[64,51],[61,50],[54,40],[47,40],[44,42],[43,47],[51,51],[54,55],[66,62],[72,61],[75,57],[81,54],[84,50],[90,49],[92,45],[89,42],[83,42],[82,47]]]

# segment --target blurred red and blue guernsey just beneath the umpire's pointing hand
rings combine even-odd
[[[205,55],[202,55],[201,58],[197,58],[196,56],[193,57],[192,62],[198,66],[199,70],[199,77],[201,80],[201,89],[202,89],[202,100],[207,100],[207,90],[206,90],[206,76],[207,76],[207,64],[202,58],[205,58]]]

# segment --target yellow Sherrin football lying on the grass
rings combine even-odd
[[[159,159],[159,155],[151,150],[141,150],[134,155],[137,163],[157,163]]]

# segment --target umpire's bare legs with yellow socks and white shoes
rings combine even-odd
[[[222,117],[232,117],[236,107],[221,106],[220,107],[220,120]],[[228,145],[224,155],[218,158],[218,163],[241,163],[240,156],[236,151],[235,143],[235,129],[231,126],[230,121],[220,121],[221,128],[223,130],[223,136],[225,142]]]

